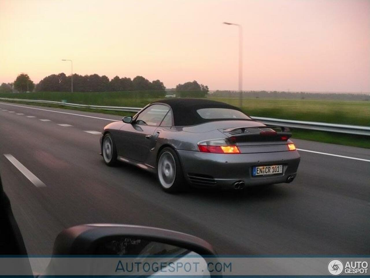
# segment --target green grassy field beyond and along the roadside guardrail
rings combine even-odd
[[[40,99],[71,103],[143,107],[149,102],[158,100],[151,98],[148,92],[135,92],[134,96],[127,92],[106,93],[70,93],[70,92],[36,92],[1,94],[0,97],[19,99]],[[212,98],[221,102],[238,106],[239,100],[235,98]],[[72,109],[71,107],[65,107]],[[90,110],[91,111],[91,110]],[[333,101],[333,100],[304,100],[304,99],[243,99],[243,111],[251,116],[260,116],[278,119],[307,120],[327,123],[340,123],[349,125],[370,125],[369,101]],[[98,112],[98,111],[96,111]],[[99,112],[128,115],[127,112],[104,111]],[[341,133],[329,133],[308,130],[294,130],[293,138],[336,143],[342,145],[370,148],[367,136],[353,136]]]

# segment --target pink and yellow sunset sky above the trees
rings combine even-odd
[[[142,75],[243,89],[370,92],[369,0],[0,0],[0,83]]]

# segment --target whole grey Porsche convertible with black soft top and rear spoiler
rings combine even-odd
[[[100,146],[107,165],[153,172],[166,192],[242,189],[293,181],[300,156],[290,136],[226,103],[164,99],[105,126]]]

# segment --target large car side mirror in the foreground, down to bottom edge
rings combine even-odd
[[[179,266],[193,265],[191,274],[209,275],[216,253],[203,239],[145,226],[88,224],[63,230],[55,239],[46,275],[189,275]],[[79,260],[75,263],[76,256]],[[196,264],[196,265],[195,265]],[[134,266],[134,272],[132,272]],[[73,274],[66,273],[72,271]],[[159,268],[158,268],[159,267]],[[202,272],[202,274],[199,274]]]

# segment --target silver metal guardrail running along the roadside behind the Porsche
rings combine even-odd
[[[85,108],[85,109],[100,109],[100,110],[125,111],[125,112],[139,112],[141,110],[140,107],[84,105],[84,104],[77,104],[77,103],[57,102],[57,101],[51,101],[51,100],[11,99],[11,98],[5,98],[5,97],[0,97],[0,100],[30,102],[30,103],[46,103],[46,104],[56,104],[56,105],[63,105],[63,106],[79,107],[79,108]],[[370,136],[370,126],[339,125],[335,123],[306,122],[306,121],[297,121],[297,120],[254,117],[254,116],[251,116],[251,117],[255,120],[258,120],[259,122],[264,123],[265,125],[286,126],[288,128],[322,130],[322,131],[329,131],[329,132],[339,132],[339,133]]]

